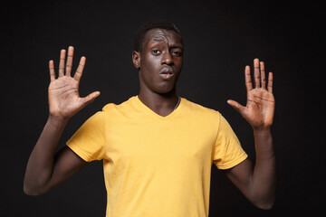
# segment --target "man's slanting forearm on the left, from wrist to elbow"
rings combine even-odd
[[[56,146],[68,120],[49,116],[41,136],[28,160],[24,176],[24,192],[38,194],[51,180]]]

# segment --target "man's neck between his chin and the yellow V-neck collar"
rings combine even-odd
[[[139,100],[158,115],[166,117],[176,109],[178,97],[175,89],[164,94],[140,90]]]

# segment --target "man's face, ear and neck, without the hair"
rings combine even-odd
[[[146,33],[143,52],[132,53],[132,61],[139,69],[139,99],[160,116],[167,116],[176,107],[182,52],[183,42],[177,33],[156,29]],[[173,71],[170,79],[160,78],[163,68]]]

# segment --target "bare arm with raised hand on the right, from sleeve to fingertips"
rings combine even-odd
[[[253,127],[256,152],[255,165],[250,159],[225,170],[225,175],[245,194],[249,201],[259,208],[270,209],[273,206],[276,189],[276,166],[273,152],[274,98],[273,73],[269,72],[266,88],[264,62],[254,59],[254,85],[250,67],[245,67],[246,106],[234,100],[228,100]]]

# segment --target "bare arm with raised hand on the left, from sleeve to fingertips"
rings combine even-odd
[[[76,174],[87,164],[67,146],[55,154],[56,146],[69,119],[100,95],[100,92],[96,91],[85,98],[80,98],[79,82],[86,59],[81,58],[72,78],[72,47],[69,47],[66,64],[65,56],[66,51],[62,50],[57,79],[55,79],[53,61],[49,62],[51,77],[49,118],[27,163],[24,176],[24,193],[27,194],[45,193]]]

